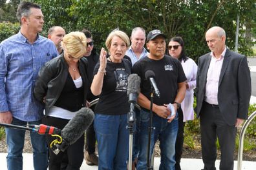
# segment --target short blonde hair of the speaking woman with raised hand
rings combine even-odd
[[[127,48],[130,46],[130,39],[128,35],[120,30],[114,30],[111,33],[109,33],[109,36],[107,37],[107,40],[105,42],[105,45],[108,50],[111,47],[111,42],[114,36],[120,37],[120,39],[122,39],[125,42]]]

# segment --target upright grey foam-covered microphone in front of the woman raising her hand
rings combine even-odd
[[[130,111],[127,115],[128,124],[131,125],[135,120],[134,106],[136,106],[137,97],[140,93],[140,77],[136,74],[131,74],[128,77],[127,95],[129,96]],[[140,108],[140,106],[136,106]]]

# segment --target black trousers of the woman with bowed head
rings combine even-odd
[[[56,117],[45,117],[43,118],[43,124],[48,126],[58,127],[63,129],[65,125],[69,122],[67,119],[56,118]],[[49,170],[59,170],[63,169],[61,164],[64,162],[66,165],[66,170],[78,170],[83,163],[83,146],[85,141],[85,136],[82,135],[74,144],[70,145],[64,152],[59,151],[58,155],[55,155],[50,149],[50,143],[56,137],[47,135],[47,144],[49,148]]]

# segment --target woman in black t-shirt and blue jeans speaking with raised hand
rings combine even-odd
[[[123,59],[130,46],[129,37],[120,30],[112,31],[105,42],[110,53],[101,48],[100,61],[94,68],[91,91],[99,95],[95,107],[94,129],[98,141],[98,169],[126,170],[129,131],[127,82],[132,64]]]

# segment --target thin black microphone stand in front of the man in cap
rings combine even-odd
[[[150,114],[150,119],[149,119],[149,139],[148,139],[148,143],[147,143],[147,169],[153,169],[153,167],[151,166],[151,162],[150,162],[150,146],[151,146],[151,133],[152,133],[152,129],[154,127],[152,127],[152,121],[153,121],[153,99],[154,99],[154,89],[153,86],[151,86],[151,95],[150,95],[150,109],[149,109],[149,114]]]

